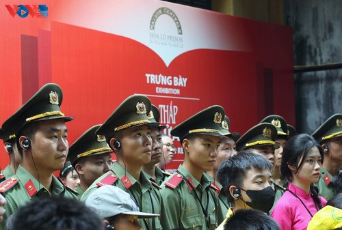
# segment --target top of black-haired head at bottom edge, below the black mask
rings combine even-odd
[[[224,230],[280,230],[276,220],[253,209],[236,210],[224,224]]]

